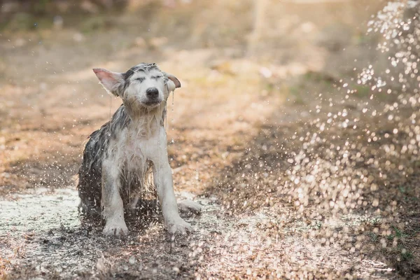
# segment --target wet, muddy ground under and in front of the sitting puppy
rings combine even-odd
[[[190,196],[190,195],[189,195]],[[41,197],[41,199],[40,199]],[[213,200],[215,198],[213,197]],[[311,226],[294,223],[278,228],[281,218],[266,208],[251,216],[225,216],[220,205],[200,200],[203,212],[187,217],[195,233],[171,237],[158,221],[130,226],[130,235],[104,237],[100,228],[80,227],[74,190],[18,195],[1,201],[2,253],[12,278],[36,279],[162,279],[357,275],[370,279],[395,276],[377,260],[358,260],[337,246],[321,246],[318,239],[297,239]],[[286,215],[290,209],[282,209]],[[10,216],[9,216],[10,215]],[[363,223],[365,217],[342,216],[331,225],[339,229]],[[339,259],[337,259],[339,258]],[[322,273],[322,274],[321,274]]]

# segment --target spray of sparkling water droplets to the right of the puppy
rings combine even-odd
[[[368,34],[381,38],[379,57],[355,72],[356,78],[340,80],[334,94],[320,94],[309,105],[306,122],[292,130],[262,129],[258,151],[247,150],[241,164],[227,173],[230,178],[218,181],[218,190],[235,194],[224,204],[229,214],[263,209],[274,228],[266,235],[295,237],[331,251],[332,258],[338,257],[337,248],[359,260],[386,258],[393,265],[413,258],[407,254],[408,238],[398,233],[398,228],[418,225],[412,201],[419,198],[413,189],[420,166],[420,95],[412,73],[419,63],[420,31],[418,15],[407,13],[407,5],[388,3],[372,18]],[[408,213],[416,218],[407,219]],[[299,269],[307,260],[317,266],[314,251],[302,253],[302,262],[291,262]]]

